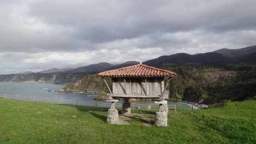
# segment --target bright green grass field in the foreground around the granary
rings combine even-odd
[[[148,113],[153,111],[133,111]],[[73,117],[77,116],[77,117]],[[111,125],[107,108],[0,100],[0,143],[256,143],[256,101],[169,111],[168,127]]]

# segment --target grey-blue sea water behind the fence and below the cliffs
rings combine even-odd
[[[94,100],[98,94],[95,93],[59,93],[60,88],[65,85],[53,83],[15,83],[15,82],[0,82],[0,96],[6,95],[7,99],[44,101],[46,103],[60,104],[78,104],[89,106],[110,107],[110,103],[106,101]],[[50,91],[50,92],[48,92]],[[121,107],[122,101],[118,101],[117,107]],[[154,107],[154,101],[142,100],[131,103],[131,107],[137,109],[158,109],[158,105]],[[190,105],[183,103],[168,102],[170,107],[176,105],[177,109],[191,109]]]

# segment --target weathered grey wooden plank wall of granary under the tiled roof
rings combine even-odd
[[[114,94],[161,95],[164,91],[162,78],[113,78]],[[125,83],[126,82],[126,83]],[[125,91],[126,89],[126,91]]]

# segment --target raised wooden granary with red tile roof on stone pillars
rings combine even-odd
[[[122,114],[129,114],[131,113],[130,98],[159,99],[156,103],[160,105],[167,104],[167,101],[165,101],[165,99],[168,98],[168,94],[165,93],[167,83],[171,77],[176,76],[176,73],[140,63],[120,69],[104,71],[99,73],[98,76],[103,80],[104,77],[111,77],[113,81],[113,89],[110,89],[107,82],[104,80],[110,92],[107,101],[112,101],[112,109],[110,110],[114,110],[115,113],[117,112],[114,105],[115,102],[121,98],[124,99]],[[164,83],[165,77],[169,78],[166,84]],[[108,121],[110,120],[111,118],[108,119]],[[118,121],[117,118],[115,118],[115,120]]]

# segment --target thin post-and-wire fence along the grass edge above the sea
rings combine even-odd
[[[33,96],[24,96],[24,95],[11,95],[11,94],[2,94],[0,99],[15,99],[15,100],[25,100],[25,101],[39,101],[44,103],[57,103],[57,104],[67,104],[67,105],[86,105],[86,106],[96,106],[96,107],[110,107],[111,102],[102,103],[99,101],[89,102],[81,100],[67,100],[67,99],[54,99],[46,97],[33,97]],[[122,104],[115,103],[117,108],[121,108]],[[168,109],[173,109],[176,111],[176,105],[168,105]],[[147,110],[158,110],[159,105],[156,104],[136,104],[131,102],[131,109],[147,109]]]

